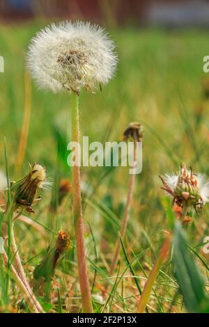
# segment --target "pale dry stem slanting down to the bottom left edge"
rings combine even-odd
[[[3,261],[5,266],[8,265],[8,256],[6,253],[3,253]],[[10,265],[10,271],[13,274],[13,278],[15,279],[17,286],[20,289],[20,292],[22,293],[22,296],[24,297],[24,300],[26,301],[27,305],[29,306],[29,310],[32,313],[45,313],[42,310],[42,307],[40,306],[39,303],[37,303],[37,300],[35,296],[33,295],[33,292],[31,289],[27,289],[26,285],[24,285],[24,282],[22,282],[22,278],[19,276],[17,273],[15,267],[13,264]]]

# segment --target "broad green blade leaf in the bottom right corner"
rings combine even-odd
[[[189,252],[187,237],[180,223],[176,223],[173,239],[173,268],[189,312],[209,312],[209,297],[201,272]]]

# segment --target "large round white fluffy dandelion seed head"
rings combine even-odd
[[[40,88],[78,94],[82,88],[94,90],[113,77],[117,64],[114,48],[99,26],[61,22],[33,38],[27,63]]]

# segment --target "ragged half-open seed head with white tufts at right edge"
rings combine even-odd
[[[160,177],[162,189],[173,196],[173,202],[178,207],[202,209],[209,201],[209,181],[206,175],[194,174],[192,168],[180,167],[178,175]]]

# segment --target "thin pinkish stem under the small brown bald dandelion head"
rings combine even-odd
[[[134,138],[134,167],[136,166],[136,163],[137,163],[137,138]],[[133,194],[134,194],[135,179],[136,179],[136,174],[135,173],[131,174],[130,179],[129,179],[129,187],[128,187],[128,192],[127,192],[127,201],[126,201],[126,205],[125,205],[125,212],[124,212],[123,221],[122,221],[122,225],[121,225],[121,231],[120,231],[120,235],[121,235],[122,239],[125,236],[125,231],[127,228],[130,207],[131,207],[132,198],[133,198]],[[114,273],[114,271],[116,269],[116,265],[118,264],[120,250],[121,250],[121,241],[120,241],[120,239],[118,239],[117,243],[116,243],[116,250],[114,252],[114,257],[111,262],[111,267],[109,270],[110,276]]]

